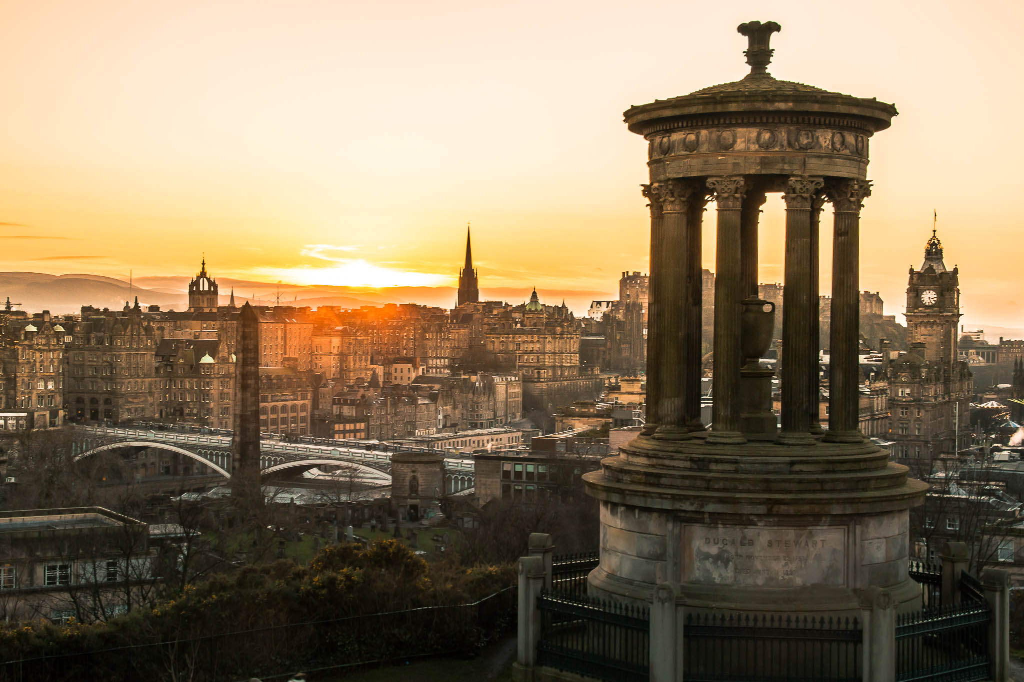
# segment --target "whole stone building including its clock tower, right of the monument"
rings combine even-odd
[[[905,315],[909,349],[885,367],[889,438],[897,461],[927,474],[933,458],[970,445],[974,393],[971,370],[959,359],[959,272],[946,269],[934,230],[921,269],[910,268]]]

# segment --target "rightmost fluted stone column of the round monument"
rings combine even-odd
[[[870,195],[866,180],[829,183],[835,210],[829,347],[828,441],[857,443],[860,435],[860,210]]]

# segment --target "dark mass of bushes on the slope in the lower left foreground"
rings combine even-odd
[[[245,566],[108,623],[0,625],[0,680],[200,682],[472,647],[502,619],[459,604],[515,580],[511,565],[427,564],[396,540],[331,545],[306,566]]]

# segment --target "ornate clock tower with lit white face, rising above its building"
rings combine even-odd
[[[925,245],[921,270],[910,268],[906,287],[907,343],[924,344],[924,357],[933,364],[954,366],[959,359],[956,330],[959,328],[959,277],[956,268],[946,270],[942,242],[932,230]]]

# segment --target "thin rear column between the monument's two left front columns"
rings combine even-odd
[[[700,253],[700,225],[703,222],[705,204],[708,202],[708,189],[703,183],[694,186],[690,194],[689,217],[686,224],[687,242],[683,258],[686,259],[686,308],[683,317],[683,364],[686,366],[686,385],[683,394],[683,412],[686,417],[686,427],[691,431],[705,430],[700,420],[700,360],[703,323],[703,276]]]

